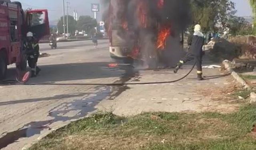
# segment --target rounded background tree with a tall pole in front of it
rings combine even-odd
[[[60,18],[60,20],[58,21],[58,31],[60,34],[63,34],[63,16]],[[65,16],[65,29],[67,32],[67,16]],[[76,20],[74,20],[73,16],[68,16],[68,32],[69,33],[74,33],[76,31]]]

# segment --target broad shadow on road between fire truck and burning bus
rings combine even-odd
[[[108,64],[113,62],[86,62],[75,64],[54,64],[39,66],[40,74],[30,78],[28,84],[54,83],[60,81],[74,81],[97,78],[120,77],[124,73],[122,68],[111,69]],[[8,79],[15,80],[15,69],[8,69]]]

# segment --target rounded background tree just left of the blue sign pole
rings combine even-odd
[[[80,16],[76,27],[78,30],[84,30],[87,34],[94,34],[96,32],[97,21],[90,16]]]

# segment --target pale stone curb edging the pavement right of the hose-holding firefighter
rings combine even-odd
[[[242,86],[245,88],[245,89],[248,89],[248,90],[251,90],[252,87],[247,84],[245,82],[245,80],[243,78],[241,78],[237,72],[234,71],[234,66],[233,64],[228,61],[228,60],[224,60],[222,62],[223,66],[224,66],[224,69],[227,70],[228,72],[230,72],[230,74],[233,76],[234,79],[236,79],[237,82],[239,82],[240,84],[242,84]],[[250,93],[250,101],[249,101],[250,104],[252,103],[256,103],[256,93],[255,92],[251,92]]]

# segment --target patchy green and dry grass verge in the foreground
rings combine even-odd
[[[238,112],[94,114],[61,128],[29,150],[256,150],[256,105]]]

